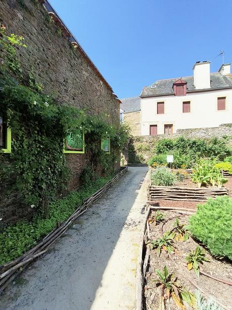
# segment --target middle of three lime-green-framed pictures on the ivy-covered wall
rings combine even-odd
[[[84,154],[84,131],[74,130],[66,136],[64,153]]]

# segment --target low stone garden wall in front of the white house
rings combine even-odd
[[[180,136],[201,139],[210,139],[212,137],[222,138],[223,136],[228,136],[231,138],[228,141],[228,145],[232,147],[232,127],[230,127],[230,124],[223,124],[219,127],[213,128],[178,129],[176,134],[172,135],[134,137],[129,143],[128,162],[147,163],[148,159],[154,155],[155,145],[158,140],[164,138],[175,139]]]

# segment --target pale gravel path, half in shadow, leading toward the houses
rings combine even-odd
[[[147,171],[129,167],[49,253],[6,290],[0,309],[133,309]]]

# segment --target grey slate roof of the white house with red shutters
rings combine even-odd
[[[141,97],[174,94],[172,85],[178,79],[179,78],[170,78],[156,81],[143,89]],[[193,76],[185,76],[181,77],[181,79],[187,82],[187,93],[188,91],[196,91]],[[210,73],[210,81],[212,90],[216,88],[232,87],[232,74],[222,75],[220,72]]]

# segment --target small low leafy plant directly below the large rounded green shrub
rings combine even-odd
[[[195,250],[192,250],[189,255],[186,257],[187,267],[189,270],[194,269],[196,275],[200,277],[200,265],[203,264],[203,261],[209,261],[209,259],[205,255],[205,251],[199,247],[196,247]]]

